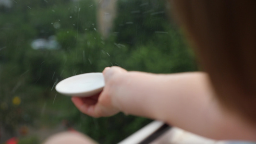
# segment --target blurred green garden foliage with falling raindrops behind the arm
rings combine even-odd
[[[40,144],[61,131],[114,144],[151,120],[91,118],[55,91],[64,78],[107,66],[196,71],[165,0],[0,0],[0,144]]]

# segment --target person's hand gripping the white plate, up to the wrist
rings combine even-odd
[[[103,91],[90,97],[72,97],[74,105],[83,113],[98,118],[117,114],[120,110],[113,105],[112,97],[116,86],[127,71],[120,67],[107,67],[103,71],[105,87]]]

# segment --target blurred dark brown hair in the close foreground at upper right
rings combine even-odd
[[[256,0],[173,0],[225,108],[256,124]]]

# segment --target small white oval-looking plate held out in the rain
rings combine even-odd
[[[58,83],[55,89],[63,95],[87,97],[99,93],[104,86],[103,74],[93,72],[66,78]]]

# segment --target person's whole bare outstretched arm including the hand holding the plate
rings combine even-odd
[[[212,139],[256,141],[255,126],[220,106],[207,73],[152,74],[108,67],[103,74],[106,85],[100,94],[72,98],[89,116],[124,112]]]

